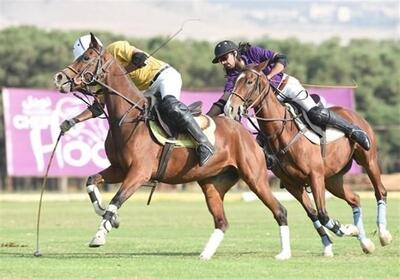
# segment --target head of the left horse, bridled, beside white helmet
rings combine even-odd
[[[79,91],[93,95],[96,82],[104,79],[109,62],[95,36],[90,33],[90,37],[89,48],[72,64],[54,75],[54,84],[61,93]]]

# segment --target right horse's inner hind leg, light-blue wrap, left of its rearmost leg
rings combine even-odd
[[[354,225],[358,229],[358,240],[364,253],[370,254],[375,250],[374,243],[367,238],[362,220],[362,210],[360,197],[355,194],[348,186],[343,183],[343,175],[335,175],[327,178],[325,181],[326,188],[336,197],[345,200],[353,209]]]

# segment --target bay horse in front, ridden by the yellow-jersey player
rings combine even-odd
[[[148,99],[128,78],[125,69],[111,53],[102,48],[93,34],[89,49],[54,76],[61,93],[80,91],[103,100],[107,108],[109,131],[105,141],[111,165],[89,177],[87,190],[95,208],[102,216],[100,226],[89,243],[90,247],[105,244],[106,235],[118,228],[118,209],[144,183],[155,178],[162,145],[149,129]],[[98,93],[98,87],[101,92]],[[129,121],[124,121],[130,119]],[[209,260],[220,245],[228,221],[223,200],[226,192],[242,178],[250,190],[267,206],[280,228],[281,251],[276,259],[291,257],[287,212],[273,196],[265,171],[265,156],[253,136],[239,123],[216,117],[215,154],[199,166],[193,148],[175,148],[160,182],[168,184],[197,181],[204,193],[208,210],[214,218],[214,231],[200,258]],[[98,187],[103,182],[122,183],[106,209],[101,205]]]

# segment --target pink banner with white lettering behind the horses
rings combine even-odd
[[[352,89],[316,88],[310,92],[321,93],[328,104],[354,107]],[[182,101],[190,104],[201,100],[206,112],[221,94],[221,91],[183,91]],[[3,89],[3,106],[8,175],[39,177],[46,171],[60,123],[86,108],[71,94],[17,88]],[[107,121],[97,118],[68,131],[57,147],[49,175],[85,177],[106,168],[107,130]]]

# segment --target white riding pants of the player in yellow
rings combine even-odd
[[[150,97],[159,92],[161,94],[161,99],[167,95],[172,95],[179,100],[181,89],[181,74],[173,67],[169,66],[169,68],[160,73],[153,84],[144,92],[144,96]]]

